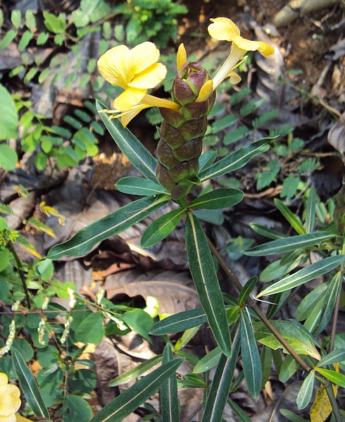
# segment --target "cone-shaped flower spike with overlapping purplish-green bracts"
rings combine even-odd
[[[172,199],[185,197],[199,184],[202,137],[215,92],[211,92],[205,101],[199,94],[210,79],[199,63],[185,63],[172,85],[172,99],[181,106],[180,111],[160,108],[163,123],[157,146],[156,175],[161,185],[171,192]]]

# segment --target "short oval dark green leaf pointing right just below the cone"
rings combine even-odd
[[[216,189],[194,199],[189,204],[192,209],[224,209],[242,201],[244,193],[239,189]]]

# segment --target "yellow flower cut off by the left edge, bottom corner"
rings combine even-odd
[[[15,422],[15,412],[20,408],[20,391],[8,384],[6,374],[0,373],[0,422]]]

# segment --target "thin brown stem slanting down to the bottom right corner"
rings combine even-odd
[[[238,278],[236,277],[236,275],[234,275],[234,273],[232,273],[232,271],[230,270],[230,268],[227,266],[227,263],[225,262],[225,260],[222,258],[222,256],[218,252],[218,249],[211,242],[211,240],[208,238],[207,235],[206,235],[206,239],[207,239],[207,242],[208,242],[208,246],[210,247],[213,255],[215,256],[215,259],[217,259],[217,261],[219,262],[220,266],[225,271],[225,273],[228,276],[228,278],[230,278],[230,280],[232,281],[232,283],[234,283],[234,285],[237,288],[237,290],[239,292],[241,292],[241,290],[243,288],[242,287],[242,284],[239,283]],[[345,242],[344,242],[344,244],[345,244]],[[343,267],[343,269],[344,269],[344,267]],[[305,361],[303,361],[303,359],[301,358],[301,356],[299,356],[299,354],[297,354],[294,351],[294,349],[292,349],[292,347],[289,345],[289,343],[282,337],[282,335],[280,335],[280,333],[275,329],[275,327],[272,325],[272,323],[270,323],[270,321],[265,316],[265,314],[263,313],[263,311],[261,311],[261,309],[253,301],[253,299],[251,299],[250,296],[247,298],[247,302],[251,306],[251,309],[253,309],[253,311],[256,313],[256,315],[261,319],[261,321],[263,321],[263,323],[266,325],[266,327],[270,330],[270,332],[272,333],[272,335],[274,335],[275,338],[284,347],[284,349],[286,349],[287,352],[289,352],[289,354],[294,358],[294,360],[297,362],[297,364],[299,364],[299,366],[301,366],[301,368],[303,369],[303,371],[306,371],[306,372],[309,373],[312,370],[312,368],[308,364],[306,364]],[[321,380],[321,383],[323,385],[325,385],[325,390],[327,392],[328,398],[330,399],[330,404],[331,404],[332,411],[333,411],[333,414],[334,414],[334,417],[335,417],[336,422],[341,422],[341,416],[340,416],[340,412],[339,412],[339,407],[338,407],[338,404],[337,404],[337,399],[334,396],[334,392],[333,392],[333,389],[332,389],[332,383],[330,383],[329,380],[325,380],[325,379],[322,379]]]

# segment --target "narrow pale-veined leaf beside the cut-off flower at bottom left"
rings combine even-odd
[[[20,387],[22,387],[25,399],[30,404],[30,407],[36,416],[42,418],[50,418],[49,411],[42,399],[41,393],[37,387],[36,380],[28,368],[20,352],[13,347],[11,349],[13,366],[17,373]]]

